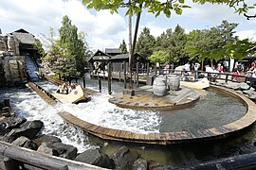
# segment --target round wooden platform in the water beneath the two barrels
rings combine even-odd
[[[185,107],[199,98],[197,91],[181,87],[179,91],[170,91],[164,96],[155,96],[152,86],[137,88],[135,95],[118,93],[109,99],[109,102],[120,108],[137,110],[170,110]]]

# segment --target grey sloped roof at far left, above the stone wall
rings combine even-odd
[[[34,44],[35,38],[32,34],[29,34],[24,29],[18,29],[11,33],[13,36],[15,36],[21,43],[27,43],[27,44]]]

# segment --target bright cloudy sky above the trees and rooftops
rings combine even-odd
[[[182,15],[173,12],[171,18],[163,14],[155,18],[155,15],[143,10],[138,34],[147,26],[156,37],[177,25],[189,33],[193,29],[220,26],[223,20],[227,20],[239,24],[235,35],[241,40],[249,38],[256,41],[256,19],[247,20],[245,16],[234,13],[234,8],[224,5],[197,5],[191,0],[185,3],[192,8],[183,9]],[[104,51],[105,48],[118,48],[122,40],[128,44],[128,17],[125,11],[126,8],[120,8],[119,13],[111,14],[109,10],[87,9],[81,0],[0,0],[0,28],[2,33],[24,28],[35,37],[40,37],[48,35],[50,27],[58,32],[64,15],[67,15],[72,25],[86,34],[90,50]],[[250,14],[256,14],[256,9],[251,9]],[[133,17],[133,27],[135,22]]]

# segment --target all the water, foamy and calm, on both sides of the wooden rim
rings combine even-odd
[[[82,80],[79,83],[82,84]],[[51,83],[40,82],[40,85],[48,91],[56,89]],[[98,90],[98,80],[86,79],[86,87]],[[113,93],[120,93],[122,89],[121,82],[113,81]],[[102,152],[111,155],[120,146],[127,145],[145,159],[159,161],[162,165],[180,166],[255,151],[254,125],[247,131],[225,140],[163,146],[106,142],[83,132],[78,127],[66,124],[57,114],[66,110],[82,120],[102,127],[148,133],[222,126],[239,119],[247,111],[238,99],[226,94],[213,90],[198,93],[201,97],[193,106],[171,111],[120,109],[108,102],[111,95],[107,94],[106,81],[102,81],[101,94],[92,96],[88,103],[78,105],[59,103],[51,107],[36,93],[23,88],[2,88],[0,98],[9,98],[15,113],[26,117],[27,120],[42,120],[45,124],[42,133],[55,135],[61,138],[64,144],[75,145],[79,152],[89,148],[100,148]]]

